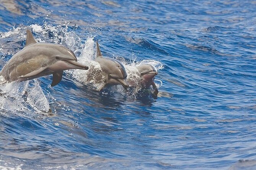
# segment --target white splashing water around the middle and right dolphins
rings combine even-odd
[[[102,75],[102,79],[101,81],[99,81],[96,79],[96,77],[94,77],[94,76],[98,77],[98,75],[100,75],[100,72],[102,70],[99,63],[94,61],[94,56],[96,54],[95,54],[95,42],[93,41],[92,37],[87,38],[84,48],[80,52],[81,52],[81,55],[78,57],[78,62],[85,65],[89,65],[90,68],[93,67],[94,72],[97,72],[98,74],[90,75],[90,70],[88,71],[73,70],[73,71],[66,71],[66,72],[68,72],[68,74],[70,74],[71,77],[77,80],[78,82],[81,82],[84,85],[90,85],[90,87],[92,87],[93,89],[99,89],[104,85],[103,82],[104,82],[104,79],[106,78],[104,77],[104,75]],[[132,63],[128,63],[127,60],[122,57],[119,57],[117,59],[121,61],[121,63],[124,65],[126,69],[127,81],[132,83],[132,86],[135,88],[132,89],[132,92],[126,93],[126,91],[124,91],[121,85],[117,85],[117,86],[109,87],[107,91],[104,90],[102,92],[103,94],[105,93],[116,94],[118,92],[122,94],[121,96],[126,96],[127,94],[129,94],[129,98],[135,98],[134,96],[136,96],[137,93],[143,89],[142,81],[141,81],[141,78],[139,77],[139,72],[136,67],[142,64],[150,64],[154,66],[156,69],[163,68],[163,64],[155,60],[143,60],[137,63],[132,61]],[[90,79],[90,81],[88,81],[88,75],[92,76],[92,79]],[[161,80],[158,80],[157,82],[158,82],[157,88],[160,88],[162,85],[162,82]]]

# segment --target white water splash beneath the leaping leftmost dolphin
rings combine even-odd
[[[0,91],[1,114],[17,111],[29,111],[34,114],[49,112],[49,103],[36,79],[2,84]]]

